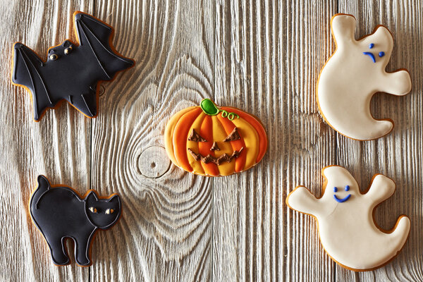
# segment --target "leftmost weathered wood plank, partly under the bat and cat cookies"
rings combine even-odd
[[[90,188],[90,120],[63,104],[35,123],[30,94],[10,79],[13,43],[23,42],[47,59],[49,47],[75,39],[71,16],[77,10],[92,12],[92,1],[0,2],[1,281],[89,279],[89,269],[52,264],[27,202],[39,174],[80,192]]]

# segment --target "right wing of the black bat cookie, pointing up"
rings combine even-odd
[[[120,56],[111,47],[113,28],[109,25],[85,13],[76,13],[75,27],[80,47],[92,52],[104,71],[102,80],[111,80],[118,71],[123,71],[134,65],[132,60]]]

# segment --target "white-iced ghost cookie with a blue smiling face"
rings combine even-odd
[[[362,194],[345,168],[327,166],[322,174],[321,198],[300,186],[290,192],[286,203],[317,219],[320,242],[328,255],[354,271],[376,269],[396,257],[410,233],[410,219],[400,216],[391,231],[384,231],[373,218],[374,208],[393,195],[393,180],[376,174],[369,190]]]

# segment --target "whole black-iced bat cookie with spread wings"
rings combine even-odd
[[[80,11],[73,18],[79,44],[66,40],[51,47],[46,62],[24,44],[14,45],[12,82],[31,92],[35,121],[62,100],[87,117],[97,116],[99,81],[134,66],[112,46],[110,25]]]

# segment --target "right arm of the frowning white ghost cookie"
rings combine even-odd
[[[410,74],[407,71],[384,73],[384,77],[377,87],[382,92],[397,96],[405,95],[411,90]]]

